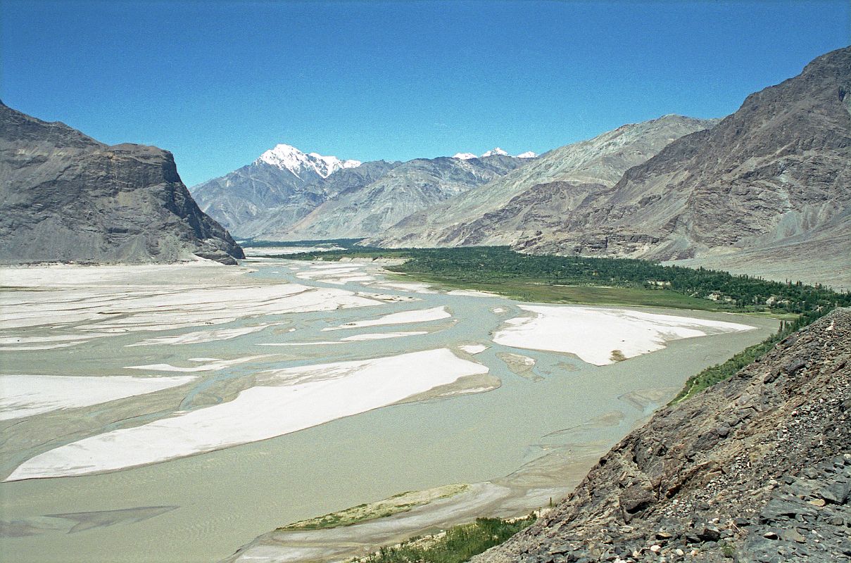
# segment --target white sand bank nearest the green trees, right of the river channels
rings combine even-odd
[[[735,322],[707,321],[684,316],[657,315],[627,309],[520,305],[532,317],[509,319],[494,342],[578,355],[582,361],[605,366],[665,348],[678,338],[732,333],[755,327]]]

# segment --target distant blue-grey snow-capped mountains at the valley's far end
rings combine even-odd
[[[364,237],[531,158],[534,153],[509,156],[496,148],[482,156],[362,163],[277,145],[248,166],[190,190],[206,213],[243,238]]]

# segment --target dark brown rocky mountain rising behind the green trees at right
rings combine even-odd
[[[750,252],[851,266],[851,48],[751,94],[716,127],[679,139],[589,194],[557,230],[523,237],[533,253],[711,259]],[[818,256],[810,242],[837,241]],[[818,245],[816,246],[818,247]],[[754,251],[757,251],[756,253]],[[832,252],[832,251],[831,251]]]

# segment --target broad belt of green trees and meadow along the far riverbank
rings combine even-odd
[[[809,311],[851,305],[851,293],[837,293],[819,285],[770,282],[648,260],[534,256],[508,247],[354,247],[287,258],[344,257],[405,259],[404,264],[388,270],[422,282],[490,291],[523,301],[722,310],[790,320]]]

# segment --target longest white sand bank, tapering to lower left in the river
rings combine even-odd
[[[265,440],[486,372],[445,348],[270,370],[260,374],[265,385],[233,401],[58,447],[21,464],[6,481],[123,469]]]

